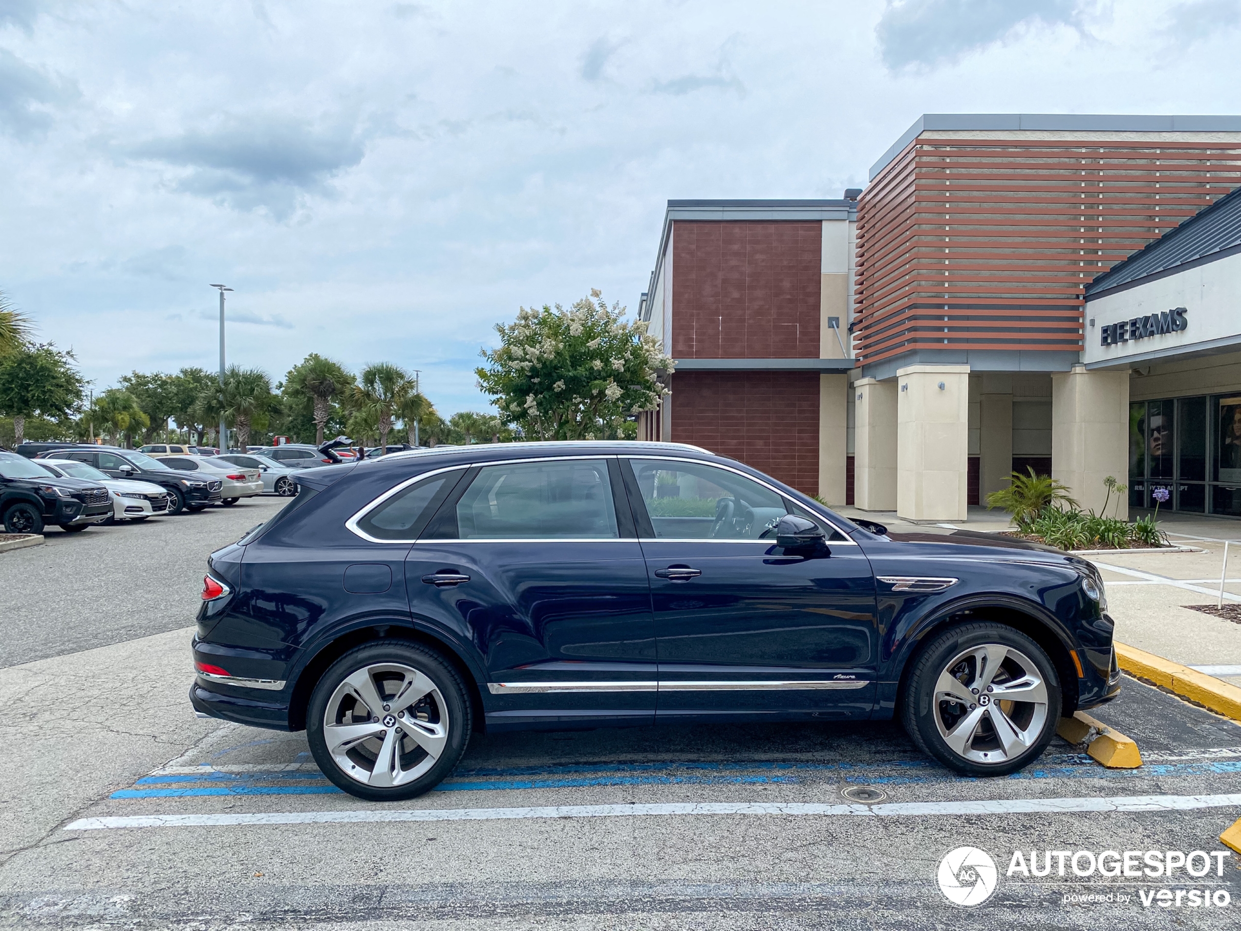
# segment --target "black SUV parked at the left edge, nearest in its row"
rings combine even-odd
[[[102,524],[112,514],[103,485],[52,478],[17,453],[0,452],[0,520],[6,534],[41,534],[45,524],[71,533]]]

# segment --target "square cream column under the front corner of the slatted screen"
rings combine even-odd
[[[896,513],[907,520],[965,519],[969,366],[897,369]]]

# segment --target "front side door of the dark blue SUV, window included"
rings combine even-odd
[[[814,516],[773,490],[702,463],[632,466],[630,501],[645,511],[658,714],[869,715],[875,582],[861,549],[820,520],[835,537],[827,547],[786,552],[769,525],[784,513]]]

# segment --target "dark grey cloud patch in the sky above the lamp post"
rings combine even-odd
[[[311,125],[282,117],[230,117],[206,130],[154,139],[133,150],[139,159],[184,169],[175,186],[242,210],[266,207],[284,217],[304,194],[366,154],[359,133],[343,123]]]

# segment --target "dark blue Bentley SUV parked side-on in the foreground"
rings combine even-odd
[[[884,720],[958,772],[1034,760],[1119,690],[1085,560],[860,526],[671,443],[514,443],[299,473],[212,554],[194,706],[308,731],[408,798],[473,730]]]

